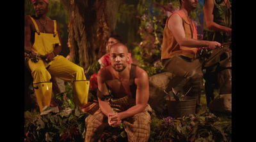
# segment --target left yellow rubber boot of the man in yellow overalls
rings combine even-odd
[[[34,90],[40,112],[42,113],[45,106],[50,106],[52,98],[52,82],[34,83]]]

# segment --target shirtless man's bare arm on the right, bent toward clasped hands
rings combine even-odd
[[[136,105],[121,113],[113,114],[110,117],[112,121],[120,121],[125,118],[132,117],[145,110],[149,98],[148,75],[147,72],[140,67],[137,67],[136,75],[137,76],[134,80],[137,85]]]

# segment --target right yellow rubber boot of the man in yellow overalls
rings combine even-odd
[[[90,81],[88,80],[73,81],[74,102],[80,110],[88,102],[89,87]]]

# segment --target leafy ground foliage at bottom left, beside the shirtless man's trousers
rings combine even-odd
[[[25,141],[82,141],[86,129],[84,119],[89,113],[66,108],[60,113],[35,115],[25,112]]]

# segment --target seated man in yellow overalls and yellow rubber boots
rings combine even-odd
[[[32,0],[35,15],[25,17],[25,50],[31,55],[39,53],[46,59],[38,62],[28,60],[28,66],[33,76],[33,86],[40,112],[51,103],[51,75],[65,81],[73,81],[74,102],[79,108],[87,103],[89,81],[86,81],[83,67],[68,61],[58,55],[61,52],[60,27],[55,20],[46,17],[47,0]]]

